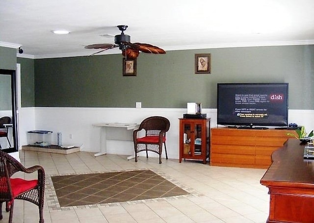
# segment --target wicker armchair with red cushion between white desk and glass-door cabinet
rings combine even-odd
[[[160,116],[146,118],[139,125],[139,128],[133,131],[133,142],[135,150],[135,162],[137,162],[137,153],[152,151],[159,154],[159,164],[161,163],[162,144],[165,146],[166,159],[168,159],[166,148],[166,132],[169,130],[170,122],[168,119]],[[145,130],[145,136],[138,138],[138,132]]]

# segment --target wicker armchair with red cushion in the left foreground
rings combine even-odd
[[[37,171],[37,179],[24,180],[11,178],[16,172],[33,173]],[[2,219],[2,203],[6,211],[10,211],[9,223],[12,223],[14,199],[23,199],[39,207],[39,223],[44,223],[45,171],[41,166],[25,168],[19,161],[6,152],[0,151],[0,220]]]

